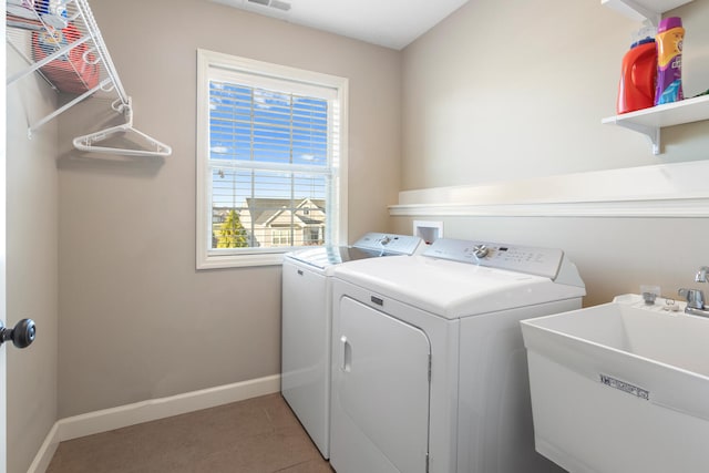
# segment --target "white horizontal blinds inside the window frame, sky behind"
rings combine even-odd
[[[258,74],[210,78],[212,249],[325,243],[337,175],[336,95]]]

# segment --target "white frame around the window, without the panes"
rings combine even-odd
[[[319,72],[271,64],[203,49],[197,50],[197,209],[196,209],[196,267],[197,269],[243,266],[280,265],[284,253],[292,247],[219,248],[212,249],[212,173],[209,172],[209,79],[229,71],[249,73],[268,83],[269,78],[326,86],[337,91],[339,101],[339,143],[332,167],[337,189],[328,196],[328,207],[335,225],[330,227],[329,245],[347,244],[347,148],[348,148],[348,88],[349,81]]]

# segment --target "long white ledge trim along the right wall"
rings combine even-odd
[[[708,217],[709,162],[399,193],[391,216]]]

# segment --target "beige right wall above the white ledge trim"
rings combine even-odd
[[[682,18],[687,96],[709,89],[709,2]],[[403,51],[402,189],[700,160],[709,122],[647,137],[615,114],[640,27],[597,0],[470,1]]]

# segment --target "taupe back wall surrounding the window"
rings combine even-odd
[[[350,80],[349,236],[387,229],[400,169],[400,53],[209,1],[92,0],[135,125],[161,160],[86,160],[60,121],[59,415],[280,372],[280,268],[195,270],[196,50]]]

